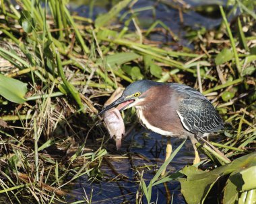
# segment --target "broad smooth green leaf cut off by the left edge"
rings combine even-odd
[[[0,95],[7,100],[23,104],[27,91],[27,83],[0,74]]]

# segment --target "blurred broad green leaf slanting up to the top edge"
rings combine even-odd
[[[98,16],[98,18],[95,20],[95,27],[100,28],[113,22],[113,19],[116,18],[120,11],[127,7],[130,2],[131,0],[120,1],[112,9],[110,9],[108,13]]]

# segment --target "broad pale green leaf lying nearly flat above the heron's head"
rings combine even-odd
[[[136,53],[130,52],[130,53],[117,53],[114,55],[108,55],[104,57],[104,65],[106,67],[116,67],[119,65],[123,65],[124,63],[128,63],[129,61],[133,61],[137,58],[139,58],[140,55],[137,55]],[[98,61],[99,63],[99,61]]]

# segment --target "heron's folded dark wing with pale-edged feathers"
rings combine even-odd
[[[180,83],[171,83],[170,88],[179,95],[177,113],[188,131],[211,133],[224,128],[222,118],[203,94]]]

